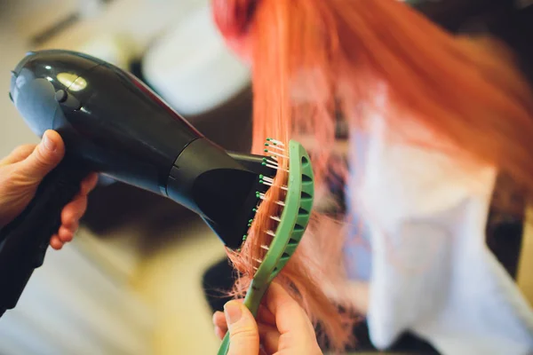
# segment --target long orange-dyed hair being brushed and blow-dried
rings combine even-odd
[[[394,132],[390,139],[493,166],[533,191],[533,96],[503,44],[453,36],[397,0],[213,0],[212,6],[228,45],[251,64],[253,153],[262,152],[267,137],[313,137],[322,188],[336,114],[355,130],[365,129],[368,114],[380,114]],[[384,88],[386,105],[376,105]],[[410,123],[432,134],[418,137]],[[253,275],[251,257],[261,256],[260,231],[271,212],[265,206],[256,218],[242,253],[229,252],[241,276],[238,293]],[[280,280],[341,350],[354,320],[339,311],[349,304],[332,296],[345,278],[345,237],[340,223],[316,213],[306,234]]]

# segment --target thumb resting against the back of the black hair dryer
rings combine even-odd
[[[65,155],[65,145],[58,132],[47,130],[41,143],[28,158],[19,163],[19,172],[32,182],[40,182],[53,170]]]

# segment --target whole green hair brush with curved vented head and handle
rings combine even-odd
[[[304,147],[298,142],[290,140],[289,146],[286,148],[282,142],[272,138],[267,138],[265,146],[267,146],[265,152],[271,155],[263,159],[263,164],[280,170],[282,168],[278,164],[278,157],[289,158],[289,170],[287,172],[287,185],[282,186],[282,189],[286,191],[285,201],[273,201],[282,206],[281,216],[271,217],[277,222],[277,227],[275,232],[266,232],[272,237],[272,241],[269,246],[262,247],[267,249],[267,254],[263,260],[257,260],[259,266],[244,298],[244,305],[248,307],[254,317],[257,316],[259,304],[267,292],[268,286],[282,271],[298,248],[299,241],[301,241],[309,224],[314,200],[313,169]],[[259,182],[265,185],[273,185],[274,183],[273,177],[261,175],[259,179]],[[257,197],[258,201],[266,199],[264,193],[258,192]],[[245,240],[246,235],[243,237],[243,241]],[[229,333],[220,345],[219,355],[226,355],[228,350]]]

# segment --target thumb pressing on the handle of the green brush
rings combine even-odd
[[[224,306],[229,332],[227,355],[258,355],[259,330],[250,310],[244,304],[230,301]]]

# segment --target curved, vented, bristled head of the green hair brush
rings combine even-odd
[[[285,146],[268,138],[265,146],[267,157],[263,164],[282,174],[280,179],[259,175],[259,183],[271,191],[257,193],[262,202],[259,209],[267,211],[269,221],[260,225],[265,230],[256,230],[256,233],[263,233],[269,242],[261,246],[263,255],[254,258],[257,263],[254,280],[268,284],[289,262],[309,224],[314,201],[314,174],[309,155],[298,142],[291,140]],[[259,212],[259,209],[254,211]],[[252,220],[249,226],[253,227]]]

